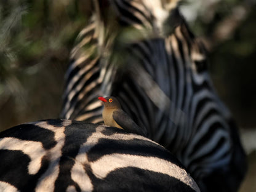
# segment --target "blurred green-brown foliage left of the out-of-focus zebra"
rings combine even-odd
[[[63,76],[89,1],[0,1],[0,130],[57,118]]]

